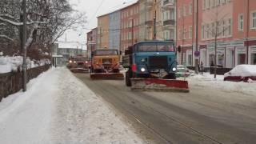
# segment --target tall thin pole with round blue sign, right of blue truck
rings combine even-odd
[[[196,1],[197,2],[197,11],[196,11],[196,28],[195,28],[195,34],[196,34],[196,42],[195,42],[195,51],[198,52],[198,0]],[[193,61],[193,59],[192,59]],[[195,73],[198,74],[198,62],[199,59],[198,59],[198,55],[195,55]]]

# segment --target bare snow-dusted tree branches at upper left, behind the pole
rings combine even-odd
[[[26,12],[30,57],[48,56],[44,54],[50,53],[52,44],[66,30],[86,23],[86,14],[73,10],[68,0],[27,0]],[[22,51],[22,15],[22,0],[0,0],[0,51],[4,54]]]

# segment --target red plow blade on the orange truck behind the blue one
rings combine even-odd
[[[90,78],[93,80],[123,80],[122,73],[92,73]]]

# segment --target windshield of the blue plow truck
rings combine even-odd
[[[142,43],[138,45],[138,52],[174,52],[173,43]]]

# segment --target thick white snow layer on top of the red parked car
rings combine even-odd
[[[239,65],[235,66],[233,70],[226,73],[224,75],[227,76],[242,76],[242,77],[250,77],[256,76],[256,65]]]

